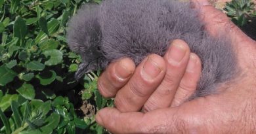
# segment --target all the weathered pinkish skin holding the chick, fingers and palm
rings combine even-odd
[[[219,94],[185,101],[201,72],[186,42],[173,41],[163,58],[150,55],[136,68],[131,59],[119,59],[98,80],[100,93],[116,98],[115,108],[98,111],[98,124],[112,133],[256,133],[256,42],[206,0],[193,2],[207,31],[232,39],[238,76]]]

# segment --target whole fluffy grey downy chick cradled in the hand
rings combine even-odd
[[[68,44],[83,58],[76,78],[122,57],[138,65],[149,54],[163,56],[171,41],[182,39],[202,60],[193,97],[217,93],[219,84],[234,77],[236,57],[228,39],[211,37],[203,27],[198,12],[179,1],[106,0],[83,7],[68,28]]]

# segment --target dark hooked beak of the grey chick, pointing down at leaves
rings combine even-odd
[[[91,71],[95,71],[97,69],[96,63],[93,61],[89,63],[81,63],[78,67],[78,70],[75,73],[75,80],[79,81],[79,79],[85,75],[86,73],[89,73]]]

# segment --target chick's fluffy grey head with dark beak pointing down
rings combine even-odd
[[[85,73],[102,69],[105,63],[101,49],[102,31],[97,16],[97,5],[85,5],[68,23],[68,45],[82,58],[75,73],[76,80],[79,80]]]

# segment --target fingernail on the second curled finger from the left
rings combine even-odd
[[[142,68],[142,75],[147,79],[154,79],[161,72],[161,68],[158,66],[156,61],[153,61],[152,58],[148,57],[144,66]]]

